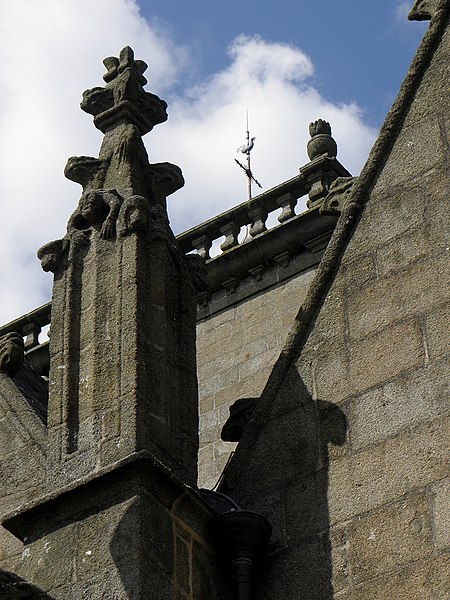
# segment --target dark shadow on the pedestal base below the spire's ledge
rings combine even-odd
[[[164,503],[141,490],[109,544],[125,597],[231,600],[211,544],[211,513],[189,494],[174,501],[159,487]]]

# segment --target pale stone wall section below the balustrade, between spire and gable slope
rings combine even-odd
[[[217,482],[235,447],[220,439],[230,405],[261,394],[313,276],[300,273],[198,323],[199,487]]]

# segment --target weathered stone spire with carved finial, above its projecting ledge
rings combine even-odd
[[[196,303],[191,268],[169,227],[166,197],[183,186],[150,164],[142,135],[167,119],[144,90],[131,48],[104,60],[106,85],[81,108],[104,133],[99,157],[72,157],[83,192],[64,238],[38,256],[54,273],[49,481],[55,485],[146,450],[187,483],[198,449]]]

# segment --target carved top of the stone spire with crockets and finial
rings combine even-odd
[[[66,236],[38,251],[45,271],[56,273],[78,260],[92,236],[113,241],[149,229],[167,232],[166,198],[184,185],[176,165],[149,164],[142,143],[142,135],[167,119],[167,104],[143,89],[147,65],[134,60],[129,47],[119,58],[106,58],[104,65],[106,86],[84,92],[81,108],[94,115],[105,138],[99,158],[73,156],[67,161],[65,176],[83,192]]]

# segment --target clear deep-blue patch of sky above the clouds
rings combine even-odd
[[[305,51],[314,86],[333,102],[357,102],[379,127],[426,28],[410,23],[412,2],[396,0],[229,0],[215,3],[141,0],[144,17],[158,19],[174,41],[189,47],[198,77],[227,64],[239,34],[259,35]]]

